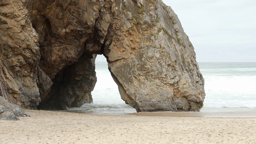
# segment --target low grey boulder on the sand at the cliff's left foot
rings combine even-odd
[[[19,120],[17,117],[27,116],[22,108],[16,104],[9,103],[0,96],[0,120]]]

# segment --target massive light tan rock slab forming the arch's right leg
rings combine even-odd
[[[138,112],[199,111],[204,79],[171,7],[125,0],[117,10],[104,54],[122,99]]]

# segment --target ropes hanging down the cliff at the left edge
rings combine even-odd
[[[2,70],[2,61],[0,58],[0,96],[3,96],[8,102],[10,102],[10,98],[8,96],[7,88],[6,88],[6,83],[4,80],[4,73]]]

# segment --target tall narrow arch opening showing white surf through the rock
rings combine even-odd
[[[95,71],[97,82],[91,92],[93,103],[86,103],[80,108],[69,108],[69,110],[94,114],[128,114],[136,112],[135,108],[125,104],[124,100],[121,99],[118,85],[114,82],[108,70],[108,62],[103,55],[97,55]]]

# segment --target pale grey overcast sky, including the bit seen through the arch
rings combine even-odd
[[[256,0],[163,2],[178,15],[197,62],[256,62]]]

